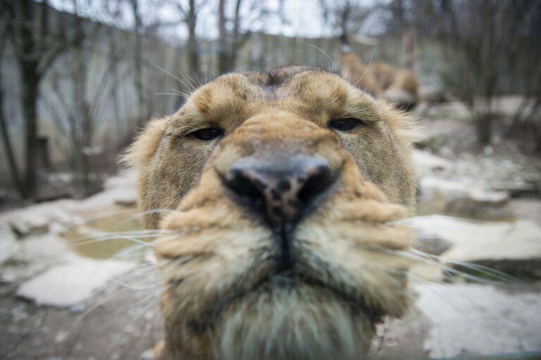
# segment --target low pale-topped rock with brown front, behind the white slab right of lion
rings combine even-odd
[[[486,220],[512,218],[506,207],[509,194],[470,187],[464,182],[425,176],[421,180],[421,206],[431,211]]]

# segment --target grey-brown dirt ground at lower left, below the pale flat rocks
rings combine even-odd
[[[147,280],[159,281],[155,273]],[[110,283],[68,309],[37,306],[15,290],[0,285],[0,359],[139,359],[163,334],[156,288]]]

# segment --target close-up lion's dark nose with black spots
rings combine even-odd
[[[242,158],[225,177],[238,199],[270,223],[296,221],[333,181],[327,160],[304,155],[270,161]]]

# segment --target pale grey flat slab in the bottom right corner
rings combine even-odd
[[[432,358],[541,350],[541,297],[475,284],[417,286],[415,306],[430,321]]]

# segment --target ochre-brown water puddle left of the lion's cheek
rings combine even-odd
[[[85,222],[66,232],[64,239],[77,254],[92,259],[142,261],[147,247],[125,238],[132,236],[129,232],[142,230],[138,213],[135,208],[120,205],[80,213]]]

